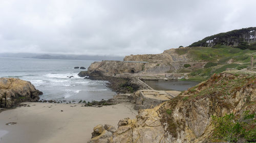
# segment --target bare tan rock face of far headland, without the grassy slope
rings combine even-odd
[[[133,61],[133,62],[130,62]],[[175,49],[165,50],[160,54],[142,54],[125,56],[124,61],[102,61],[94,62],[88,68],[89,72],[95,70],[107,75],[123,73],[176,73],[184,68],[185,64],[190,67],[186,69],[200,69],[206,62],[197,62],[189,58],[187,54],[178,54]]]

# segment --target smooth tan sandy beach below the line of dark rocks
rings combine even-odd
[[[38,102],[25,104],[30,107],[17,107],[0,113],[1,143],[84,143],[91,138],[96,125],[111,124],[117,128],[120,119],[133,119],[137,115],[130,103],[103,107]],[[10,122],[16,124],[6,125]]]

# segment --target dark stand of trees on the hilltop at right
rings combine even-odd
[[[242,28],[240,30],[212,35],[189,45],[189,47],[214,47],[217,45],[227,45],[241,49],[255,50],[256,27]]]

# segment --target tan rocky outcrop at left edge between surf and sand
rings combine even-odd
[[[0,105],[11,108],[17,103],[38,101],[42,92],[35,89],[29,81],[17,78],[0,78]]]

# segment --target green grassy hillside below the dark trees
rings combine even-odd
[[[186,47],[178,48],[176,52],[180,55],[187,54],[193,61],[207,62],[203,69],[186,69],[189,80],[203,81],[212,74],[221,73],[227,68],[242,70],[250,66],[250,56],[256,59],[256,50],[242,50],[222,45],[219,48],[210,47]],[[254,63],[256,65],[256,63]],[[184,71],[183,69],[183,71]]]

